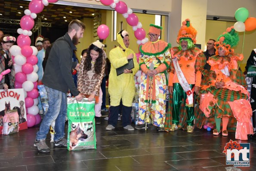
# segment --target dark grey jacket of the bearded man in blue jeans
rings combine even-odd
[[[77,62],[72,62],[73,51],[76,49],[68,33],[53,43],[43,74],[44,85],[64,93],[69,89],[74,96],[79,95],[71,73],[77,65]]]

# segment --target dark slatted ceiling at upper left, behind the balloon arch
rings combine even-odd
[[[6,19],[20,20],[22,16],[25,15],[24,10],[28,9],[29,3],[30,1],[25,0],[0,0],[0,14],[2,14],[0,15],[0,19],[4,19],[4,21],[6,21]],[[21,8],[20,6],[23,6],[23,8]],[[70,13],[70,11],[72,13]],[[21,14],[19,14],[18,12],[21,12]],[[38,21],[38,18],[41,18],[42,22],[51,23],[52,27],[66,27],[66,25],[72,19],[93,18],[93,13],[94,9],[90,8],[49,3],[48,6],[44,6],[43,12],[37,14],[37,18],[35,18],[34,20],[36,22]],[[44,18],[47,18],[47,20],[45,20]],[[19,28],[19,25],[6,24],[3,23],[1,20],[0,30],[2,28],[16,29]]]

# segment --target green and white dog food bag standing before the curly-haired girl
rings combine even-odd
[[[68,150],[96,149],[95,101],[68,98]]]

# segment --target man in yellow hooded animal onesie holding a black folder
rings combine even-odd
[[[123,128],[133,131],[131,124],[132,102],[135,93],[135,82],[133,76],[139,70],[139,64],[133,50],[129,49],[129,34],[122,30],[117,33],[119,46],[109,52],[111,70],[109,74],[108,93],[110,95],[110,107],[108,115],[108,126],[106,130],[112,130],[117,125],[120,100],[122,99],[122,124]],[[128,59],[133,59],[134,68],[125,69],[117,76],[117,68],[128,63]]]

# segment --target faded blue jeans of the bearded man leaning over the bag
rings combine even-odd
[[[55,120],[54,140],[58,141],[65,136],[65,119],[67,116],[67,95],[56,89],[45,86],[48,95],[49,108],[37,132],[36,140],[46,139],[52,121]]]

